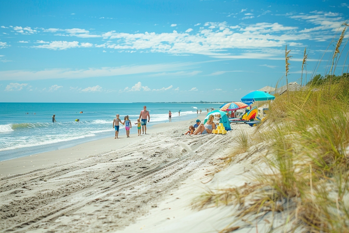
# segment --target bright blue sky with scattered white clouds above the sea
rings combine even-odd
[[[0,102],[239,101],[285,83],[285,45],[289,82],[305,48],[307,79],[324,74],[348,13],[326,0],[0,1]]]

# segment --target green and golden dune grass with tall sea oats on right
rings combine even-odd
[[[221,232],[236,230],[238,221],[254,225],[266,216],[269,232],[349,232],[349,50],[348,39],[343,41],[348,24],[343,26],[332,42],[326,73],[313,75],[305,85],[302,81],[298,91],[276,96],[254,134],[242,132],[237,138],[225,162],[241,154],[260,156],[251,182],[209,190],[193,201],[199,209],[238,207],[232,213],[235,222]],[[288,54],[286,49],[286,74]],[[305,50],[302,71],[306,59]],[[262,150],[252,149],[256,146]]]

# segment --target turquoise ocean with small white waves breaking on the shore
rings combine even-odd
[[[0,103],[0,161],[114,137],[116,114],[121,120],[128,115],[135,126],[144,105],[150,114],[149,127],[168,122],[169,110],[176,122],[197,117],[200,109],[206,116],[207,108],[216,109],[222,103]],[[151,133],[151,128],[147,132]],[[132,127],[131,133],[137,133],[137,127]],[[123,125],[119,135],[126,135]]]

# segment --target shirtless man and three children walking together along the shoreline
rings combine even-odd
[[[126,137],[129,138],[130,129],[132,128],[132,123],[129,120],[129,116],[125,116],[124,122],[121,122],[121,119],[119,117],[120,115],[117,114],[116,118],[114,118],[114,121],[113,121],[113,128],[115,129],[115,138],[118,138],[118,135],[119,135],[119,128],[120,128],[119,123],[125,125]],[[147,107],[144,106],[143,110],[139,114],[139,118],[137,119],[137,122],[135,123],[138,129],[138,136],[141,136],[141,127],[143,132],[142,134],[147,134],[147,120],[148,122],[150,121],[150,115],[149,115],[149,111],[147,110]]]

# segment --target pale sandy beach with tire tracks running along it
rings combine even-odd
[[[232,221],[233,206],[198,211],[190,204],[207,185],[244,182],[242,174],[250,161],[223,170],[221,158],[231,152],[240,130],[250,133],[253,128],[237,124],[225,135],[182,135],[195,119],[158,124],[142,136],[111,135],[1,162],[0,231],[223,229]]]

